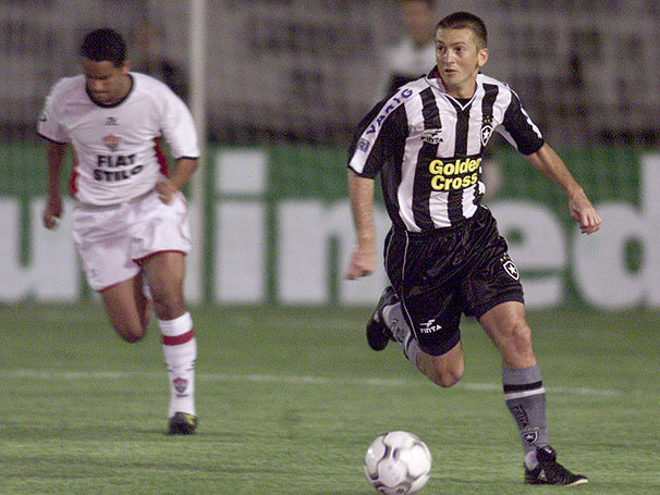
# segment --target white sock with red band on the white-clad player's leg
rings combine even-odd
[[[197,341],[191,313],[186,312],[174,320],[158,320],[158,325],[170,381],[168,418],[175,412],[195,414]]]

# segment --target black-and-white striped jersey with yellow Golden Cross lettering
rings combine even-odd
[[[475,214],[485,191],[481,157],[493,132],[523,154],[543,138],[516,94],[479,74],[468,101],[447,95],[435,69],[379,102],[349,150],[358,175],[381,174],[392,222],[411,232],[455,225]]]

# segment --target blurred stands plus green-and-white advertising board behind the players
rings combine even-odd
[[[660,3],[440,0],[433,25],[456,10],[486,21],[484,72],[516,90],[602,206],[606,228],[580,238],[560,191],[493,143],[487,200],[528,302],[660,306],[650,248],[660,231]],[[38,224],[45,158],[35,125],[51,85],[80,72],[82,36],[100,26],[124,35],[135,71],[190,104],[206,144],[187,191],[193,300],[377,300],[382,273],[342,277],[353,243],[346,148],[382,96],[405,15],[395,0],[0,0],[0,301],[90,297],[69,230]],[[376,215],[382,236],[388,221]]]

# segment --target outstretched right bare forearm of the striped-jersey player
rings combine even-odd
[[[577,222],[580,232],[583,234],[597,232],[600,228],[601,220],[596,208],[550,145],[543,144],[538,151],[526,158],[546,177],[563,189],[569,198],[571,218]]]

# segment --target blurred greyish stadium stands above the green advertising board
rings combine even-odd
[[[375,102],[398,0],[2,0],[2,131],[32,135],[53,81],[78,72],[88,29],[111,25],[133,66],[190,97],[191,39],[201,37],[213,143],[344,146]],[[206,32],[191,33],[195,4]],[[437,1],[489,28],[488,74],[509,82],[548,139],[656,146],[660,4],[653,0]]]

